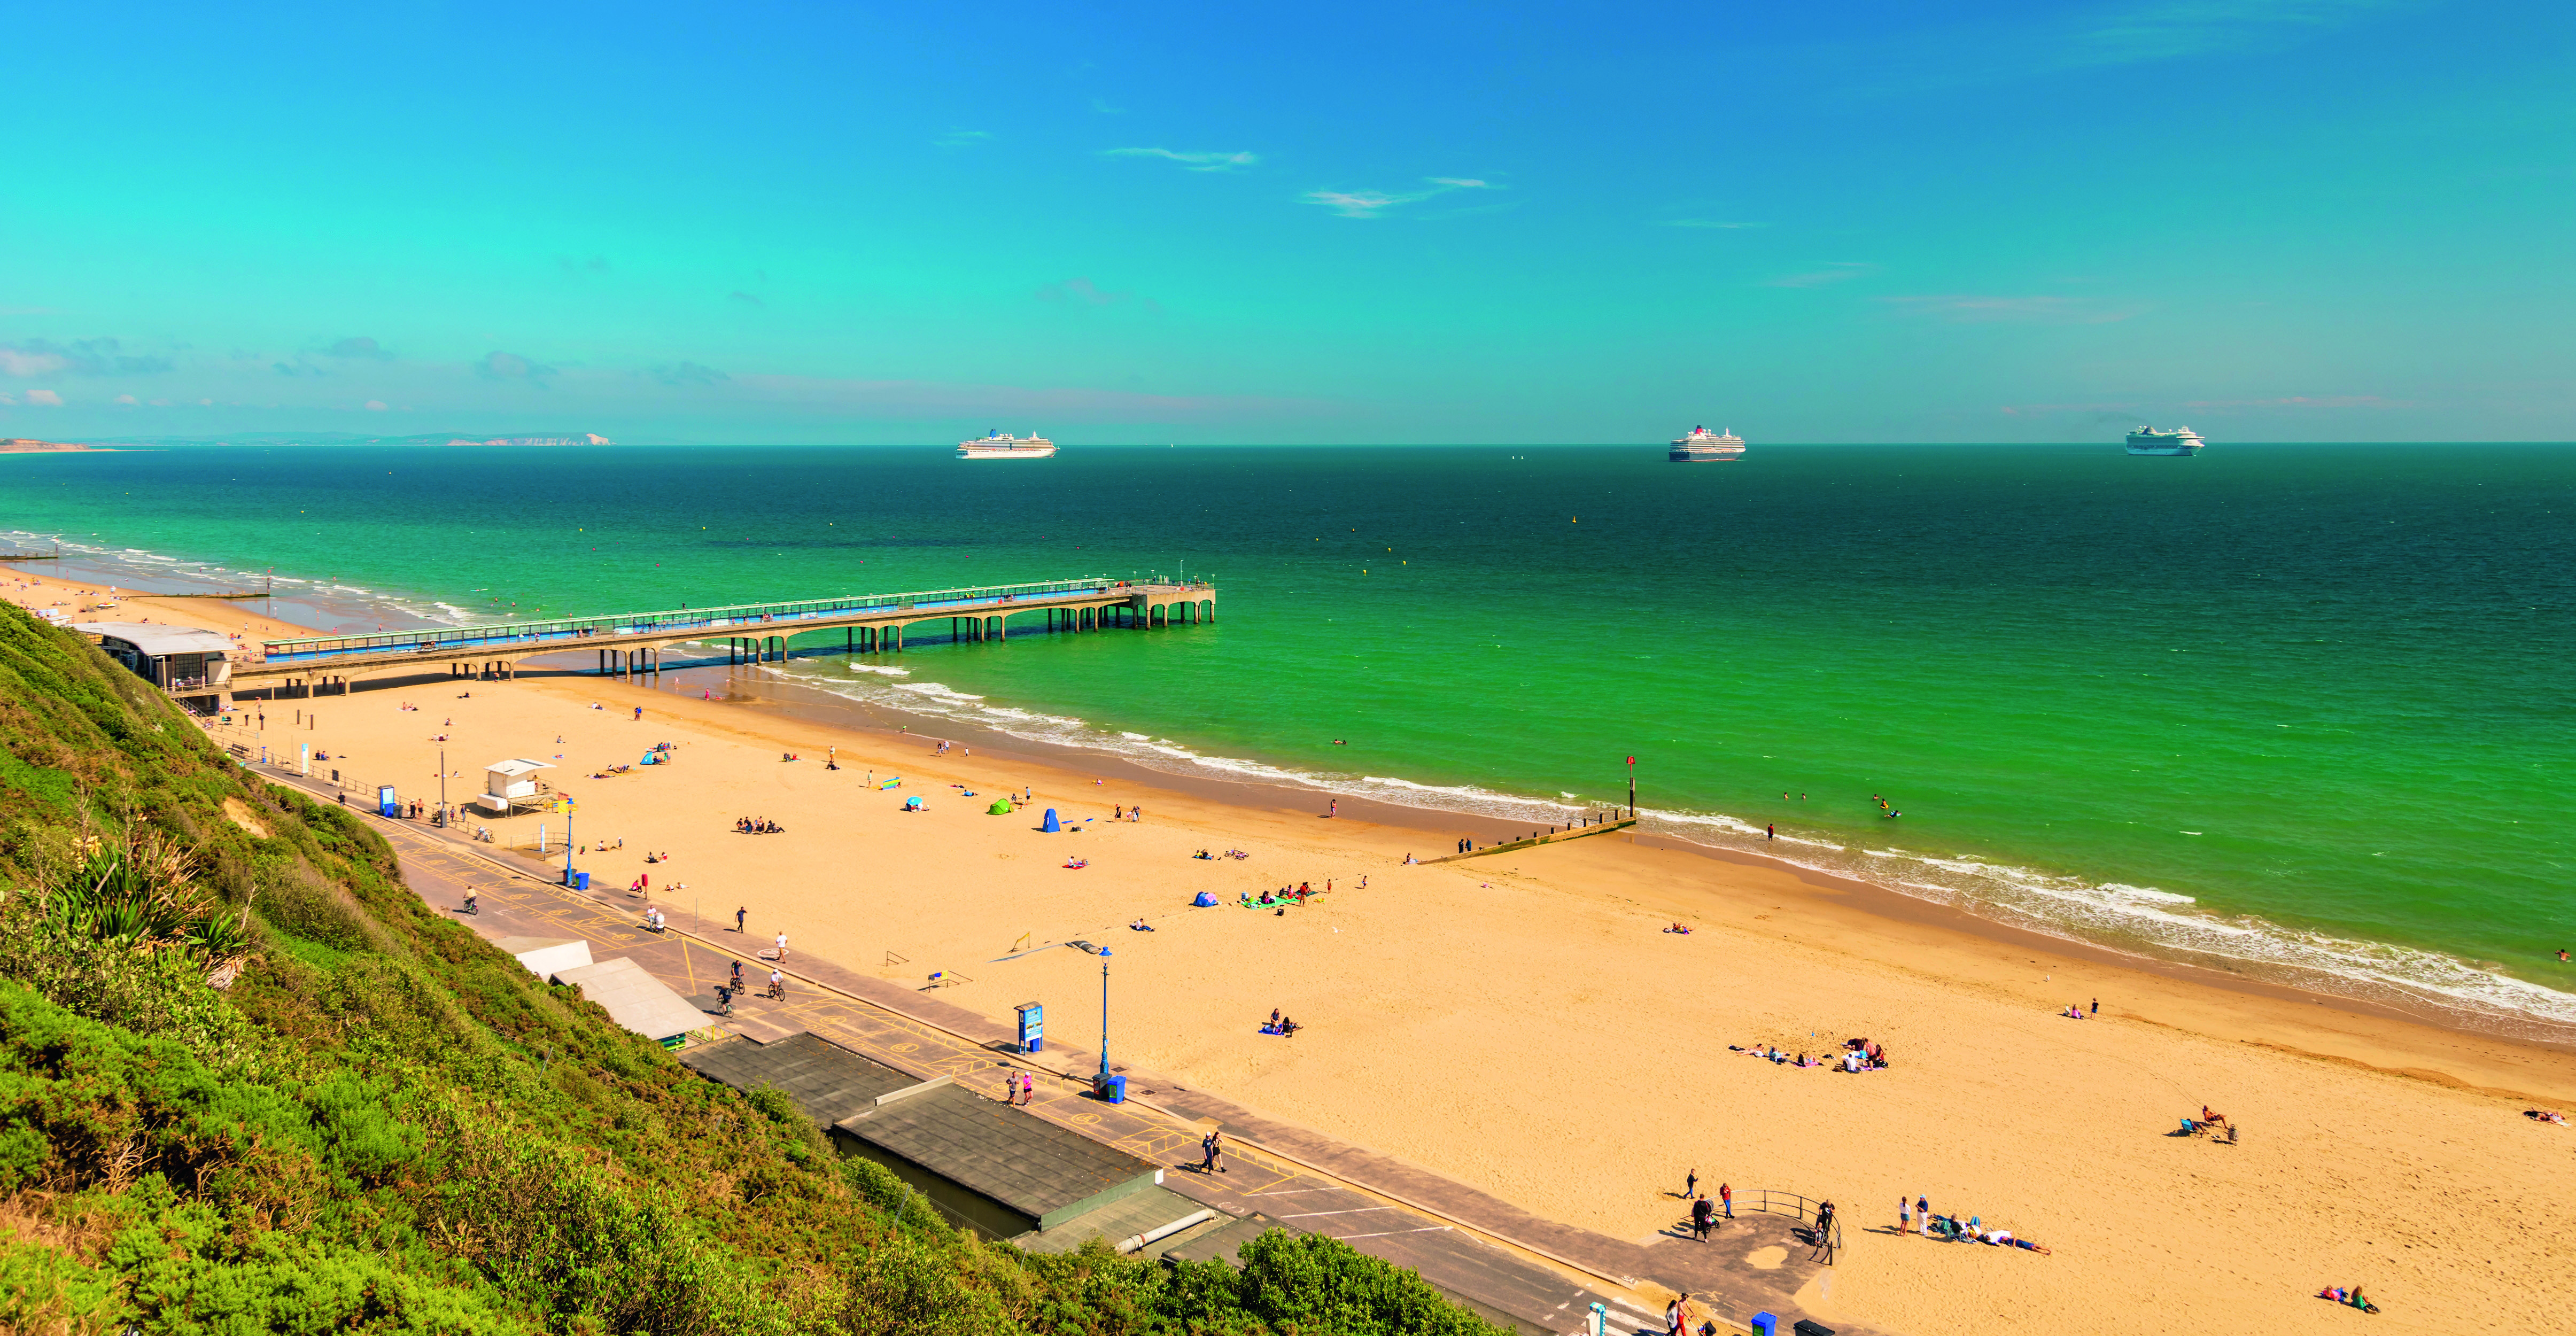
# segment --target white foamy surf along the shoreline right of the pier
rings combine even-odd
[[[819,685],[850,700],[956,718],[1023,741],[1108,752],[1175,775],[1275,783],[1425,811],[1528,821],[1533,826],[1564,824],[1571,813],[1618,806],[1615,795],[1597,803],[1571,793],[1530,798],[1481,785],[1432,785],[1401,775],[1350,775],[1249,757],[1200,754],[1154,734],[1097,728],[1069,716],[992,705],[981,695],[958,692],[943,682],[878,685],[873,677],[809,674],[796,664],[773,672]],[[2347,940],[2249,914],[2215,914],[2192,896],[2154,886],[2097,883],[1976,855],[1850,847],[1819,834],[1780,831],[1777,839],[1767,839],[1762,824],[1718,811],[1643,808],[1641,819],[1641,829],[1649,834],[1765,855],[1793,867],[1868,880],[1904,896],[1947,904],[1984,919],[2071,942],[2105,945],[2159,960],[2218,965],[2233,973],[2277,978],[2311,991],[2354,996],[2416,1014],[2442,1012],[2445,1019],[2512,1035],[2555,1032],[2563,1037],[2553,1027],[2576,1025],[2576,994],[2524,983],[2445,952]]]

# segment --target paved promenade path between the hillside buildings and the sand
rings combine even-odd
[[[294,785],[317,801],[335,801],[330,785],[250,767],[270,783]],[[623,888],[572,891],[559,870],[510,849],[474,844],[420,821],[381,819],[350,806],[379,829],[402,862],[404,883],[433,909],[456,911],[471,891],[479,914],[461,919],[484,940],[580,937],[598,960],[631,958],[701,1009],[714,1009],[714,988],[734,960],[744,983],[768,983],[768,940],[737,934],[732,922],[708,922],[662,898],[670,932],[641,927],[644,898]],[[1584,1331],[1592,1303],[1602,1303],[1618,1333],[1662,1333],[1664,1303],[1690,1292],[1695,1310],[1723,1328],[1747,1331],[1754,1313],[1775,1313],[1780,1331],[1803,1318],[1795,1292],[1821,1266],[1783,1215],[1739,1215],[1716,1243],[1692,1243],[1682,1202],[1674,1225],[1649,1241],[1620,1241],[1538,1218],[1512,1202],[1450,1182],[1376,1151],[1332,1140],[1242,1109],[1170,1079],[1118,1066],[1128,1079],[1126,1104],[1090,1094],[1100,1058],[1077,1048],[1018,1053],[1010,1027],[935,991],[863,976],[829,960],[788,952],[786,1001],[739,996],[732,1017],[708,1014],[708,1035],[778,1040],[811,1030],[855,1053],[920,1079],[953,1076],[961,1086],[994,1097],[1005,1073],[1028,1071],[1038,1081],[1033,1112],[1082,1135],[1105,1140],[1170,1169],[1164,1187],[1226,1212],[1260,1212],[1280,1225],[1342,1238],[1350,1246],[1422,1272],[1448,1295],[1489,1321],[1530,1333]],[[1208,1127],[1229,1140],[1226,1171],[1198,1171],[1198,1140]],[[1739,1194],[1739,1205],[1752,1194]],[[1757,1266],[1749,1256],[1785,1259]],[[1692,1331],[1700,1318],[1692,1318]],[[1883,1336],[1857,1323],[1821,1323],[1837,1336]]]

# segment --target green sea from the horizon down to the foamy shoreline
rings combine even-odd
[[[448,618],[1206,574],[1213,626],[863,664],[819,633],[786,672],[1530,819],[1636,754],[1710,844],[1775,821],[1772,852],[2009,922],[2576,1022],[2576,448],[945,456],[18,456],[0,530]]]

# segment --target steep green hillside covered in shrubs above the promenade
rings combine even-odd
[[[0,608],[0,1331],[1494,1328],[1327,1238],[1236,1272],[958,1236]]]

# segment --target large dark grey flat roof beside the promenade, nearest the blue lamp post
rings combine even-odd
[[[832,1133],[914,1184],[927,1174],[966,1189],[969,1202],[930,1197],[994,1238],[1056,1228],[1162,1184],[1162,1169],[945,1076],[881,1094]]]

